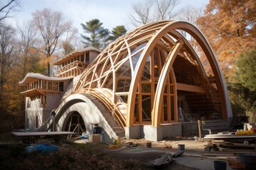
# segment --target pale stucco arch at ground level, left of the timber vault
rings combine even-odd
[[[98,123],[102,128],[102,140],[113,142],[117,138],[110,125],[106,122],[100,110],[95,103],[87,98],[84,94],[73,94],[65,98],[56,109],[55,127],[58,131],[65,130],[65,125],[74,112],[82,116],[85,128],[88,133],[92,134],[92,123]],[[50,127],[50,125],[48,126]]]

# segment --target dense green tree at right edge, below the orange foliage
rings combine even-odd
[[[228,84],[230,102],[235,115],[256,121],[256,50],[242,53],[236,62],[238,71]]]

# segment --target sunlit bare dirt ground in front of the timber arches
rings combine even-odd
[[[179,149],[184,149],[181,157],[174,158],[165,169],[214,169],[213,162],[220,160],[228,163],[228,159],[235,159],[238,153],[256,152],[253,149],[222,148],[221,151],[206,152],[204,148],[208,141],[195,140],[193,137],[176,137],[159,142],[151,142],[151,147],[146,145],[146,140],[123,139],[117,149],[105,149],[117,159],[139,159],[142,162],[150,162],[166,153],[174,154]],[[132,144],[132,145],[131,145]],[[128,146],[128,147],[127,147]],[[182,146],[184,148],[182,148]],[[227,170],[232,169],[227,164]]]

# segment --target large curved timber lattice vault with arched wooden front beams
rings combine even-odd
[[[212,75],[206,74],[202,55]],[[118,38],[85,69],[75,91],[105,98],[122,114],[125,126],[177,122],[179,98],[191,98],[194,113],[218,112],[224,119],[231,114],[213,50],[201,31],[186,21],[149,23]]]

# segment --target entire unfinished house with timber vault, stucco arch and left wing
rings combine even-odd
[[[226,128],[232,117],[213,50],[186,21],[149,23],[103,51],[75,50],[53,65],[57,77],[28,73],[20,81],[27,86],[21,94],[32,130],[92,133],[99,125],[108,142],[117,137],[159,141],[181,136],[182,126],[190,134],[197,120]]]

